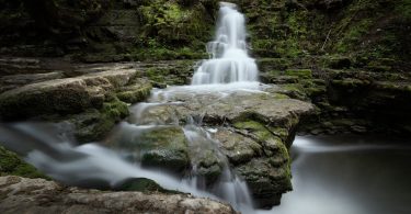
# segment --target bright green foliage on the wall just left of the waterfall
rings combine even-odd
[[[137,9],[141,31],[132,50],[132,59],[204,58],[204,44],[212,38],[215,22],[213,9],[209,11],[205,4],[207,2],[164,0],[142,3]]]

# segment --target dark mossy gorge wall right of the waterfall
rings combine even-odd
[[[238,2],[249,18],[251,46],[259,57],[343,55],[355,67],[410,67],[407,0]]]

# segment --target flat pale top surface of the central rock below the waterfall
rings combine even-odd
[[[140,119],[144,123],[167,124],[201,116],[204,122],[224,123],[253,117],[270,125],[289,125],[292,120],[313,113],[311,103],[289,99],[284,94],[255,91],[201,93],[184,91],[159,93]],[[159,116],[161,115],[161,116]]]

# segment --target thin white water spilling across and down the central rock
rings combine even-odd
[[[244,90],[254,91],[258,89],[255,87],[258,86],[250,85],[250,88]],[[112,134],[112,136],[116,138],[114,140],[118,142],[119,136],[121,138],[123,137],[121,142],[132,142],[133,138],[136,138],[136,136],[138,137],[138,135],[140,135],[142,132],[167,126],[175,127],[176,125],[179,125],[180,121],[178,117],[165,121],[153,121],[146,119],[146,115],[148,115],[152,108],[161,105],[183,104],[184,102],[172,101],[175,95],[189,94],[195,97],[212,93],[218,98],[224,99],[226,95],[240,90],[237,87],[235,87],[236,89],[232,87],[221,87],[219,90],[208,90],[207,87],[204,88],[205,90],[202,90],[202,88],[203,87],[171,87],[168,89],[153,91],[151,98],[149,99],[150,102],[139,103],[130,108],[132,115],[128,120],[128,123],[123,122],[117,131]],[[229,202],[236,210],[239,210],[242,213],[253,213],[253,202],[247,183],[230,169],[228,159],[219,150],[219,142],[210,137],[210,133],[213,132],[213,129],[208,131],[201,127],[201,123],[202,119],[194,121],[194,119],[190,117],[187,119],[186,125],[181,126],[182,131],[184,132],[185,138],[189,142],[190,149],[193,149],[193,151],[191,153],[195,154],[203,153],[203,150],[214,150],[219,157],[219,160],[222,160],[224,169],[219,179],[213,185],[207,187],[205,184],[205,179],[202,176],[198,176],[196,171],[197,166],[195,161],[192,160],[192,171],[180,181],[183,187],[190,187],[190,189],[185,188],[184,190],[186,192],[193,191],[193,194],[195,195],[198,195],[198,193],[203,194],[203,196],[212,194],[213,199]],[[126,137],[127,139],[124,139],[124,137]],[[155,181],[158,181],[158,183],[162,185],[161,180]],[[172,190],[178,187],[172,187]],[[180,189],[180,191],[182,190]],[[205,192],[208,193],[204,194]]]

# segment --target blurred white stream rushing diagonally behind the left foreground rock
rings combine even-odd
[[[41,171],[67,184],[114,188],[128,178],[147,178],[169,190],[218,199],[169,174],[142,169],[139,165],[126,161],[119,153],[98,144],[76,146],[69,138],[61,136],[61,129],[56,125],[1,125],[0,142],[7,148],[25,155],[25,160]]]

